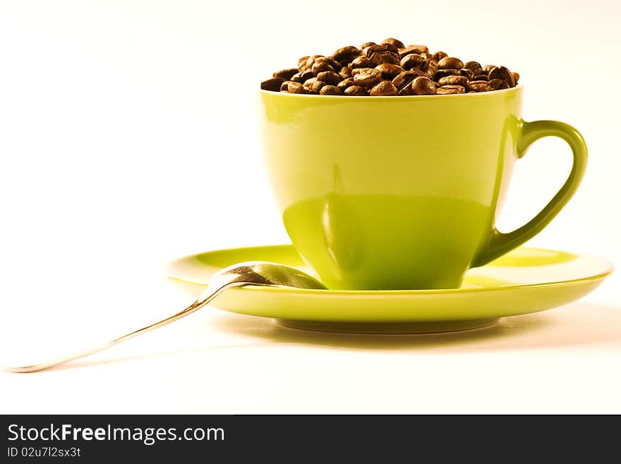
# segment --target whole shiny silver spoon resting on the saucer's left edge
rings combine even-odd
[[[163,319],[162,321],[152,323],[150,326],[140,328],[137,331],[115,338],[108,343],[92,347],[90,350],[80,351],[73,355],[51,359],[46,362],[40,362],[39,364],[32,364],[31,366],[6,367],[4,370],[8,372],[42,371],[44,369],[49,369],[49,367],[57,366],[58,364],[64,364],[65,362],[73,361],[74,359],[78,359],[80,357],[93,355],[97,352],[107,350],[109,347],[118,345],[119,343],[129,340],[130,338],[153,331],[156,328],[166,326],[171,322],[188,316],[188,314],[192,314],[194,311],[204,307],[205,304],[212,301],[212,299],[224,292],[224,290],[231,287],[240,287],[241,285],[326,289],[325,285],[319,282],[319,280],[310,277],[310,275],[303,273],[301,270],[284,266],[282,264],[267,263],[263,261],[251,261],[234,264],[233,266],[219,270],[219,272],[213,275],[205,292],[203,292],[203,294],[200,295],[200,297],[198,297],[198,299],[196,299],[196,301],[190,306],[183,309],[183,311],[179,311],[178,313]]]

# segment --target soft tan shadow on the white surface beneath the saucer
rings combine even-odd
[[[335,333],[299,330],[273,319],[218,311],[205,323],[279,343],[360,350],[512,350],[566,345],[621,347],[621,307],[574,303],[536,314],[501,318],[486,328],[447,333]]]

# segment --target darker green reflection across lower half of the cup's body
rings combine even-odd
[[[329,194],[289,206],[283,222],[329,288],[447,288],[462,281],[489,213],[454,198]]]

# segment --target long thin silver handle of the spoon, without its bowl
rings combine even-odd
[[[32,364],[30,366],[19,366],[19,367],[4,367],[2,368],[7,372],[36,372],[42,371],[44,369],[49,369],[50,367],[57,366],[59,364],[64,364],[65,362],[73,361],[74,359],[79,359],[81,357],[94,355],[103,350],[107,350],[109,347],[114,345],[118,345],[119,343],[123,343],[130,338],[137,337],[138,335],[142,335],[143,333],[147,333],[150,331],[155,331],[156,328],[160,328],[166,326],[167,324],[178,321],[179,319],[188,316],[188,314],[192,314],[194,311],[198,311],[198,309],[205,306],[205,304],[209,303],[212,299],[217,297],[220,293],[227,290],[230,287],[236,287],[239,285],[246,285],[248,282],[240,282],[239,280],[230,280],[227,282],[218,282],[218,285],[210,284],[205,292],[203,292],[198,299],[195,300],[190,306],[186,307],[172,316],[167,317],[166,319],[162,319],[162,321],[158,321],[152,323],[150,326],[146,326],[143,328],[139,328],[137,331],[133,331],[123,335],[119,338],[115,338],[114,340],[109,341],[108,343],[102,343],[102,345],[97,345],[95,347],[90,348],[89,350],[83,350],[80,352],[73,353],[73,355],[67,355],[63,357],[59,357],[56,359],[50,359],[49,361],[40,362],[38,364]]]

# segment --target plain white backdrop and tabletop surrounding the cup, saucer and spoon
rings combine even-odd
[[[162,278],[171,258],[288,242],[258,83],[303,54],[390,36],[506,64],[524,119],[581,131],[584,182],[531,244],[618,266],[619,15],[608,0],[0,1],[0,364],[183,306],[198,289]],[[501,230],[553,196],[570,158],[562,141],[533,146]],[[282,335],[205,310],[98,358],[115,362],[1,374],[0,412],[621,412],[620,287],[617,273],[492,341],[424,346]]]

